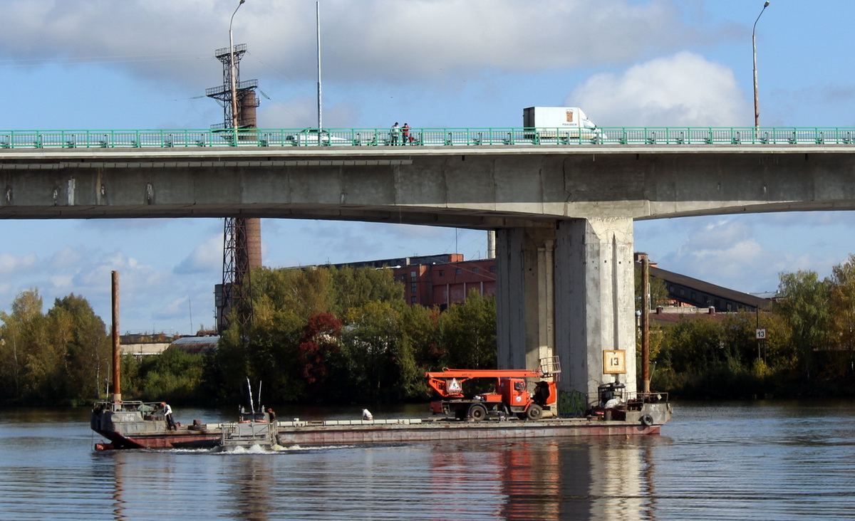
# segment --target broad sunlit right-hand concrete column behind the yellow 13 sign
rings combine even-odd
[[[576,219],[556,231],[556,354],[562,390],[596,396],[605,382],[635,390],[633,221]],[[606,374],[603,351],[625,351],[626,372]]]

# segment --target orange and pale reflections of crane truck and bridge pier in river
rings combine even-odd
[[[433,454],[430,488],[434,502],[453,505],[455,516],[478,512],[504,519],[656,518],[652,444],[661,438],[549,440],[459,444]],[[462,497],[457,497],[457,496]],[[498,509],[495,506],[498,505]]]

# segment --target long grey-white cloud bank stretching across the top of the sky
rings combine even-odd
[[[329,0],[321,6],[331,78],[424,79],[442,70],[532,71],[626,63],[694,38],[669,0],[608,3],[540,0]],[[228,45],[236,3],[112,0],[4,3],[0,46],[17,58],[109,63],[143,79],[217,79],[213,52]],[[290,79],[315,73],[315,3],[247,2],[233,18],[245,61]],[[80,38],[85,34],[86,38]],[[159,38],[151,38],[158,34]],[[61,53],[61,54],[57,54]],[[24,65],[26,63],[22,63]],[[214,83],[215,85],[215,83]]]

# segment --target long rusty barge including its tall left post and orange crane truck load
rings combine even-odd
[[[279,421],[271,409],[261,406],[256,411],[250,390],[251,410],[241,407],[236,422],[170,423],[171,408],[165,402],[121,399],[117,272],[113,272],[113,284],[113,394],[92,407],[90,419],[91,429],[108,440],[97,443],[98,450],[643,436],[659,434],[672,415],[668,395],[629,393],[624,383],[602,383],[592,397],[560,391],[561,368],[557,357],[550,357],[540,360],[536,370],[428,372],[427,383],[441,400],[431,404],[433,417],[426,419],[376,419],[363,410],[362,419]],[[479,388],[477,381],[492,383],[492,390],[479,392],[483,386]],[[464,383],[474,383],[475,391],[467,392]]]

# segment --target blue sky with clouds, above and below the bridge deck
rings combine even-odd
[[[3,0],[0,128],[207,128],[237,0]],[[321,0],[324,126],[520,126],[522,108],[580,106],[599,126],[751,126],[761,0]],[[758,22],[762,126],[855,126],[855,2],[773,0]],[[234,41],[258,79],[259,126],[316,126],[315,0],[247,0]],[[825,277],[855,252],[852,212],[652,220],[635,249],[734,290],[780,272]],[[121,330],[214,323],[222,221],[0,221],[0,309],[36,288],[85,296]],[[481,231],[263,220],[266,266],[459,251]]]

